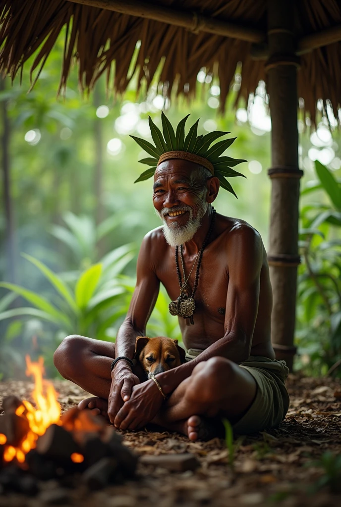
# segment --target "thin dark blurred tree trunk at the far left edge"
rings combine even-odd
[[[0,78],[0,90],[6,89],[5,79]],[[11,179],[10,179],[10,120],[7,111],[7,100],[1,101],[2,111],[2,168],[3,168],[3,198],[5,214],[5,249],[6,249],[6,279],[15,282],[15,245],[14,245],[14,223],[13,206],[11,199]]]

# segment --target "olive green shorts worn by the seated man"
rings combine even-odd
[[[188,349],[186,360],[194,359],[202,350]],[[257,392],[243,417],[233,425],[235,433],[248,434],[275,428],[283,421],[289,408],[289,394],[285,387],[289,369],[285,361],[263,356],[250,356],[239,364],[255,379]]]

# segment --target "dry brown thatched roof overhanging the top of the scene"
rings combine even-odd
[[[66,25],[60,90],[76,57],[83,89],[91,89],[107,73],[109,88],[124,92],[133,75],[130,65],[138,41],[141,46],[133,68],[139,87],[144,81],[151,83],[160,62],[159,80],[167,84],[168,93],[173,86],[178,93],[193,93],[198,71],[206,67],[219,77],[222,104],[238,62],[242,62],[238,96],[247,98],[259,80],[266,82],[266,0],[154,0],[148,4],[138,0],[0,0],[0,5],[0,68],[12,78],[37,50],[31,70],[42,67]],[[341,39],[340,24],[340,0],[295,2],[294,31],[301,65],[298,95],[313,120],[321,98],[330,100],[337,117],[341,44],[333,41]],[[264,59],[255,59],[260,47],[254,44],[262,42]],[[316,48],[319,45],[324,47]]]

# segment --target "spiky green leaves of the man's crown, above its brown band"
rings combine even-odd
[[[205,135],[197,135],[199,120],[191,126],[188,134],[185,136],[185,124],[189,116],[190,115],[185,116],[185,118],[179,122],[176,132],[174,132],[172,124],[169,122],[166,115],[161,112],[162,133],[149,116],[149,127],[155,146],[145,139],[141,139],[140,137],[135,137],[133,135],[130,136],[141,148],[143,148],[143,150],[151,155],[149,158],[139,160],[142,164],[149,165],[150,167],[144,171],[134,183],[142,182],[153,176],[159,162],[159,158],[164,153],[183,151],[198,155],[199,157],[211,162],[214,167],[214,175],[219,178],[220,186],[237,197],[231,184],[226,178],[232,178],[234,176],[246,177],[244,174],[232,169],[232,167],[240,164],[241,162],[246,162],[246,160],[220,156],[231,146],[236,137],[216,142],[210,147],[213,141],[223,135],[230,134],[231,132],[215,131],[209,132]]]

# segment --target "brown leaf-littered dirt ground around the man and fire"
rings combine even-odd
[[[85,396],[71,382],[54,384],[63,410]],[[195,472],[171,473],[140,463],[137,481],[97,492],[83,486],[61,489],[56,481],[47,481],[37,497],[0,494],[0,507],[51,503],[82,507],[341,505],[341,462],[338,468],[332,462],[321,465],[321,456],[327,451],[341,456],[341,382],[290,375],[287,385],[291,405],[285,421],[276,430],[236,437],[233,466],[223,440],[192,443],[175,433],[126,432],[125,445],[139,455],[189,452],[198,458],[200,467]],[[7,394],[29,399],[31,390],[30,382],[0,382],[0,400]],[[322,486],[322,481],[329,485]],[[54,496],[52,490],[56,491]]]

